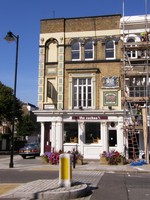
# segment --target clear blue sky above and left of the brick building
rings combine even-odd
[[[4,40],[11,31],[19,35],[16,96],[37,106],[40,20],[122,15],[123,1],[125,16],[150,13],[150,0],[0,0],[0,81],[14,88],[16,42]]]

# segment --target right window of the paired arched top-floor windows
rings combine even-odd
[[[94,45],[92,41],[89,41],[84,46],[84,58],[85,60],[94,59]]]

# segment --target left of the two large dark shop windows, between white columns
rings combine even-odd
[[[64,143],[78,143],[78,123],[64,123]]]

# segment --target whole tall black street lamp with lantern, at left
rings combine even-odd
[[[12,132],[11,132],[11,152],[10,152],[10,163],[9,168],[14,167],[13,156],[14,156],[14,128],[15,128],[15,112],[16,112],[16,86],[17,86],[17,67],[18,67],[18,45],[19,35],[14,35],[12,32],[8,32],[4,38],[8,42],[16,41],[16,61],[15,61],[15,75],[14,75],[14,91],[13,91],[13,121],[12,121]]]

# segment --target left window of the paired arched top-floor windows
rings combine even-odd
[[[72,60],[80,60],[81,47],[79,42],[75,42],[71,46],[71,59]]]

